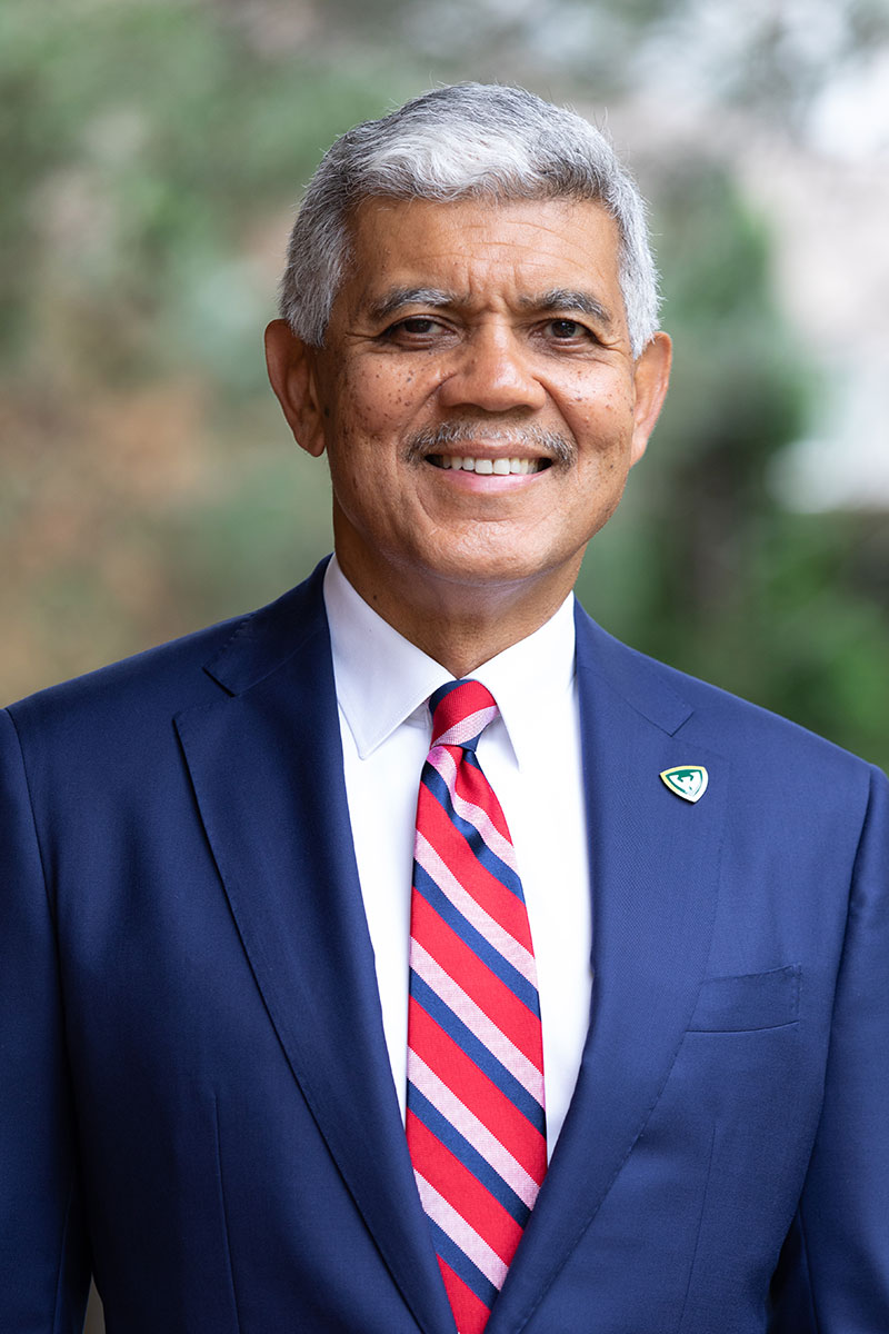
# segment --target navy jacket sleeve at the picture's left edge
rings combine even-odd
[[[15,724],[0,712],[0,1327],[83,1329],[88,1251],[51,904]]]

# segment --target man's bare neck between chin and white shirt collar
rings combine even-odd
[[[577,576],[576,568],[560,568],[517,583],[457,583],[420,579],[417,571],[399,578],[389,568],[385,576],[373,578],[353,567],[339,548],[337,560],[379,616],[457,678],[472,675],[540,630],[558,611]]]

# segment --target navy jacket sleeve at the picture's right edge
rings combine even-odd
[[[889,1330],[889,783],[877,770],[853,871],[824,1107],[769,1330]]]

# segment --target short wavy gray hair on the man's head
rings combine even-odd
[[[657,271],[645,201],[605,136],[524,88],[435,88],[337,139],[293,223],[280,312],[321,347],[349,261],[349,219],[371,197],[574,199],[601,204],[620,233],[620,285],[633,356],[657,328]]]

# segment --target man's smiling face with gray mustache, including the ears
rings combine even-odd
[[[633,362],[617,248],[588,201],[359,208],[325,347],[280,325],[296,352],[272,379],[300,444],[328,454],[337,555],[367,600],[568,592],[666,387],[665,335]]]

